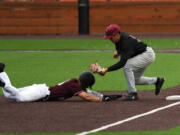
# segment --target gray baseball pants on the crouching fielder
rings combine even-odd
[[[124,75],[130,92],[136,92],[135,85],[155,84],[157,77],[142,76],[147,66],[155,60],[155,53],[151,47],[147,47],[146,51],[129,59],[123,67]]]

